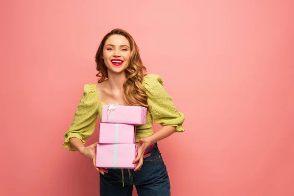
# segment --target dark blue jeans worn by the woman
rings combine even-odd
[[[100,196],[132,196],[133,185],[138,196],[171,196],[170,178],[157,143],[147,152],[140,171],[107,169],[100,173]],[[124,185],[124,186],[123,186]]]

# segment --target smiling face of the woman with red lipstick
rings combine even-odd
[[[129,65],[131,47],[123,35],[111,35],[105,41],[103,60],[108,71],[123,72]]]

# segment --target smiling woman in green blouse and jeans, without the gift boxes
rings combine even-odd
[[[146,75],[139,49],[130,34],[114,29],[104,36],[96,53],[98,84],[86,84],[77,106],[73,123],[66,132],[63,146],[78,150],[96,168],[95,148],[85,147],[94,132],[97,117],[102,118],[102,105],[110,102],[147,108],[146,124],[136,125],[138,162],[134,170],[96,168],[100,172],[100,196],[131,196],[133,185],[139,196],[170,196],[170,180],[157,142],[183,132],[185,117],[178,112],[172,98],[155,74]],[[162,128],[153,134],[152,119]]]

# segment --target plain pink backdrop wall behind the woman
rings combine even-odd
[[[160,141],[172,196],[294,195],[292,0],[0,2],[5,196],[93,196],[98,172],[62,147],[109,30],[136,40],[186,116]],[[159,126],[156,125],[158,130]],[[98,131],[87,145],[98,140]]]

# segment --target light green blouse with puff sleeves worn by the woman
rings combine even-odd
[[[147,113],[146,124],[136,125],[136,142],[139,142],[140,138],[153,135],[152,119],[162,126],[175,126],[176,132],[183,132],[182,123],[185,116],[177,111],[172,98],[164,90],[161,77],[156,74],[148,74],[144,77],[143,86],[146,89],[147,103],[151,106],[151,109],[150,113]],[[75,111],[73,123],[64,135],[64,147],[69,150],[76,150],[69,143],[72,137],[80,139],[85,144],[85,140],[94,132],[98,115],[101,122],[102,105],[107,104],[98,99],[96,84],[85,84],[84,93]]]

